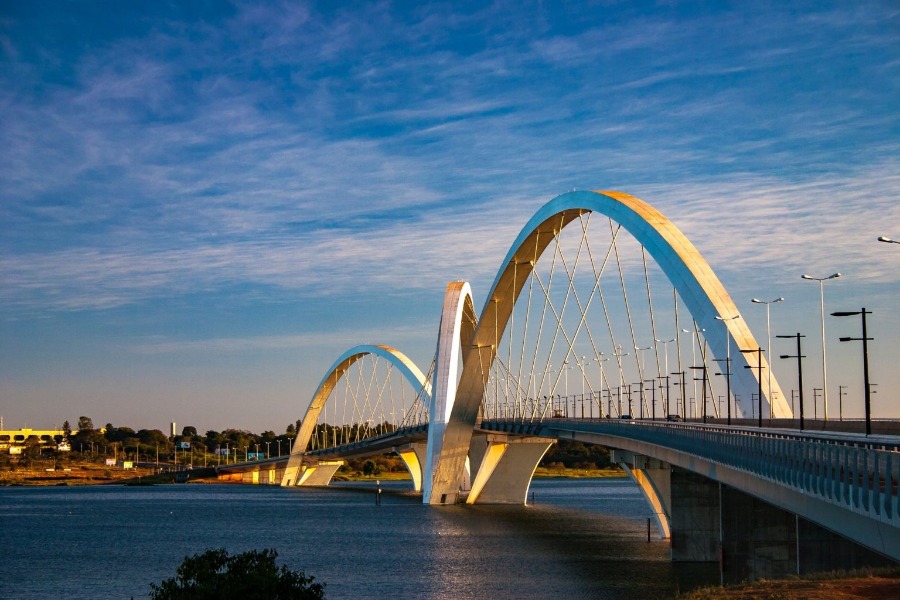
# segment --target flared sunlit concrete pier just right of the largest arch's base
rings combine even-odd
[[[474,436],[469,459],[478,471],[466,504],[525,504],[534,470],[555,443],[538,437]]]

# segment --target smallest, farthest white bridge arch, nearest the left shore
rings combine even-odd
[[[368,355],[383,358],[396,367],[413,389],[422,390],[422,393],[426,396],[425,404],[431,410],[431,382],[403,352],[381,344],[362,344],[350,348],[341,354],[329,367],[313,393],[312,400],[300,424],[300,429],[297,431],[294,447],[291,450],[291,456],[288,459],[284,477],[282,478],[282,485],[292,485],[299,481],[298,475],[302,467],[303,455],[306,452],[319,415],[325,407],[331,392],[335,389],[344,373],[354,363]]]

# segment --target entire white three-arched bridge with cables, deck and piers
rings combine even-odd
[[[797,428],[766,352],[664,215],[570,192],[523,227],[480,313],[467,282],[447,286],[427,371],[349,349],[290,456],[225,476],[325,485],[343,460],[390,452],[426,504],[522,504],[571,439],[611,449],[674,560],[737,579],[900,560],[900,436]]]

